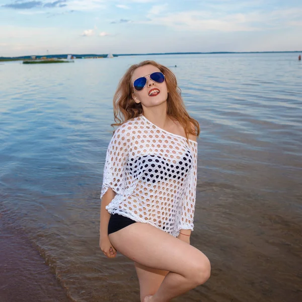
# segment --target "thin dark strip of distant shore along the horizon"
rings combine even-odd
[[[298,53],[302,52],[302,50],[294,50],[294,51],[211,51],[211,52],[154,52],[154,53],[120,53],[113,54],[113,56],[137,56],[137,55],[171,55],[171,54],[239,54],[239,53]],[[73,56],[77,58],[104,58],[107,57],[107,54],[73,54]],[[36,55],[37,58],[46,57],[46,58],[66,58],[67,54],[52,54],[52,55]],[[0,57],[0,61],[8,61],[8,60],[25,60],[30,59],[30,55],[26,56],[18,56],[18,57]]]

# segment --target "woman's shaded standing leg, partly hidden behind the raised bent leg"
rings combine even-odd
[[[169,271],[147,267],[137,262],[134,262],[134,266],[139,281],[140,302],[143,302],[145,296],[154,295],[158,291]]]

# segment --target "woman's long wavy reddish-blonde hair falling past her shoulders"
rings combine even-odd
[[[189,116],[181,97],[181,89],[177,86],[177,80],[174,73],[169,68],[152,60],[142,61],[130,66],[123,75],[113,97],[115,123],[111,124],[111,126],[120,126],[127,120],[143,113],[141,104],[135,103],[132,99],[132,93],[134,91],[131,78],[134,70],[144,65],[158,67],[161,72],[165,74],[167,89],[169,91],[167,99],[167,115],[172,120],[177,120],[183,126],[187,139],[189,139],[189,134],[198,136],[200,132],[199,123]]]

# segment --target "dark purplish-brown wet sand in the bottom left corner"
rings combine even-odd
[[[0,301],[70,302],[31,242],[0,213]]]

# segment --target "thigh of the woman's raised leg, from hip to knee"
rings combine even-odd
[[[109,240],[117,251],[143,266],[185,277],[209,263],[201,251],[149,223],[135,222],[109,234]]]

